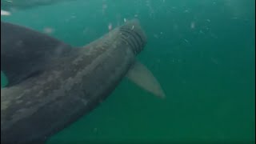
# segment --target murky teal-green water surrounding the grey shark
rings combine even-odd
[[[105,8],[104,8],[105,7]],[[90,114],[47,141],[251,142],[255,140],[254,0],[80,0],[14,10],[6,22],[82,46],[137,17],[138,56],[166,99],[124,79]],[[5,85],[2,78],[1,85]]]

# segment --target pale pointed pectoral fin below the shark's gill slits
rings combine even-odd
[[[166,97],[158,80],[154,78],[154,75],[142,63],[135,62],[134,66],[131,67],[126,74],[126,77],[142,87],[142,89],[149,91],[160,98]]]

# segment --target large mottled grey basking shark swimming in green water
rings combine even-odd
[[[1,143],[43,143],[98,106],[125,76],[164,98],[136,60],[146,46],[137,19],[82,47],[1,22]]]

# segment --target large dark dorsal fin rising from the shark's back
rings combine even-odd
[[[70,47],[47,34],[1,22],[1,70],[8,78],[7,86],[42,70],[46,61],[67,54]]]

